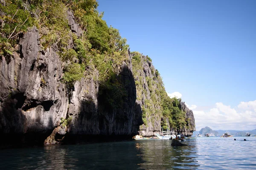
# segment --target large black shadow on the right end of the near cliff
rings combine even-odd
[[[78,113],[72,107],[69,109],[74,120],[65,143],[130,140],[143,124],[141,107],[135,102],[134,77],[127,64],[122,65],[119,74],[112,74],[107,81],[96,82],[90,88],[97,89],[97,85],[96,96],[80,99]]]

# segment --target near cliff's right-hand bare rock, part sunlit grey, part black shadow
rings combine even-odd
[[[84,140],[84,136],[102,136],[107,138],[116,135],[131,138],[137,134],[139,126],[143,123],[140,106],[136,101],[136,86],[131,72],[131,57],[128,64],[123,62],[116,78],[125,87],[127,97],[122,101],[122,106],[116,108],[111,106],[105,94],[99,94],[104,83],[93,80],[97,71],[92,71],[92,76],[76,82],[75,90],[70,99],[69,116],[73,117],[68,128],[70,137],[77,136]],[[118,92],[117,92],[118,93]],[[125,137],[126,136],[126,137]],[[79,140],[79,139],[76,139]]]

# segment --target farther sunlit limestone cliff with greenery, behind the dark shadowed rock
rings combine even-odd
[[[193,112],[181,100],[174,107],[173,102],[177,99],[169,99],[167,96],[160,74],[152,65],[151,59],[134,52],[132,63],[137,85],[137,102],[143,108],[144,124],[140,126],[143,135],[153,136],[154,133],[160,133],[163,128],[192,136],[195,131]],[[183,122],[172,121],[177,119],[175,116],[178,115],[174,111],[175,108],[180,111],[182,117],[179,119],[183,119]]]

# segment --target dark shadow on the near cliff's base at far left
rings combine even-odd
[[[41,116],[35,115],[35,124],[27,125],[29,120],[24,115],[24,93],[9,95],[0,104],[0,147],[23,147],[43,145],[52,131],[53,121],[49,117],[44,127]]]

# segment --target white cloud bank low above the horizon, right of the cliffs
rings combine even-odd
[[[221,102],[209,111],[193,111],[197,130],[209,126],[214,130],[253,130],[256,128],[256,100],[241,102],[231,108]]]

